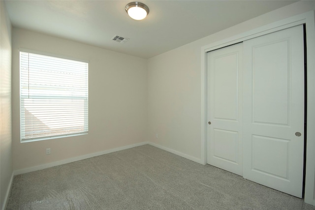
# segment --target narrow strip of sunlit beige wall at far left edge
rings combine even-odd
[[[4,207],[12,168],[11,136],[11,24],[0,1],[0,209]]]

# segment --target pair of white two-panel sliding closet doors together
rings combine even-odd
[[[207,53],[207,163],[302,197],[303,25]]]

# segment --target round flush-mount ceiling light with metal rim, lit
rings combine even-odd
[[[142,20],[149,14],[149,7],[138,1],[128,3],[125,9],[128,15],[135,20]]]

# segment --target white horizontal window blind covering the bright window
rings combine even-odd
[[[88,133],[88,63],[20,52],[21,141]]]

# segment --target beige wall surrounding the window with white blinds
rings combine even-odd
[[[146,59],[17,28],[12,43],[14,170],[146,141]],[[20,48],[89,62],[88,135],[20,143]]]

